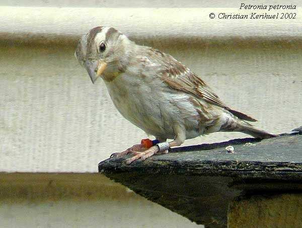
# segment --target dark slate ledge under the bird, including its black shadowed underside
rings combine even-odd
[[[99,172],[206,227],[226,227],[238,196],[302,191],[301,133],[177,148],[130,165],[124,159],[100,162]]]

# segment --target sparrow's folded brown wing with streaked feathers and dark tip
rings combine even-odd
[[[199,99],[203,99],[207,102],[223,107],[242,120],[251,122],[257,121],[254,118],[249,117],[242,112],[233,110],[229,106],[225,105],[198,75],[193,73],[178,60],[174,59],[171,55],[153,48],[150,48],[150,52],[152,52],[150,55],[153,56],[153,59],[164,66],[164,68],[160,70],[159,75],[161,75],[162,80],[171,88],[191,93]]]

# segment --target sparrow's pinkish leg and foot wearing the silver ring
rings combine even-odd
[[[176,136],[175,140],[173,140],[172,142],[168,143],[169,144],[169,148],[170,147],[176,147],[176,146],[180,146],[181,144],[183,144],[183,142],[185,141],[185,135],[184,134],[179,134]],[[159,145],[159,144],[158,144]],[[126,164],[130,164],[132,163],[133,161],[136,161],[138,159],[140,160],[145,160],[147,159],[148,157],[151,157],[155,154],[164,154],[164,153],[168,153],[168,149],[166,150],[163,150],[161,151],[160,150],[160,147],[156,145],[156,146],[153,146],[153,147],[150,147],[149,149],[143,151],[143,152],[140,152],[138,154],[136,154],[135,156],[131,157],[131,158],[128,158],[125,160],[125,163]]]

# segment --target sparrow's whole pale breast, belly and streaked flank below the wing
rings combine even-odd
[[[125,73],[105,83],[121,115],[147,134],[173,139],[177,125],[186,129],[187,139],[204,133],[190,95]]]

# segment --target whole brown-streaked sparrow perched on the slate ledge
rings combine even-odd
[[[112,155],[133,154],[127,164],[214,132],[242,132],[260,139],[276,136],[249,124],[256,120],[224,104],[200,76],[171,55],[137,45],[114,28],[90,30],[74,55],[92,83],[99,77],[104,80],[121,115],[159,142]]]

